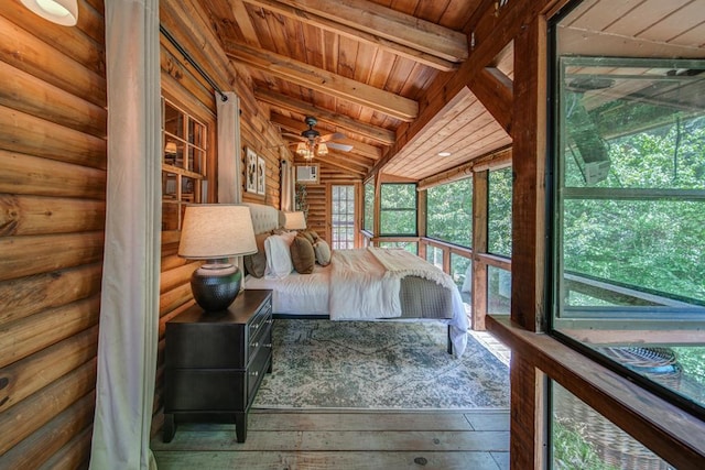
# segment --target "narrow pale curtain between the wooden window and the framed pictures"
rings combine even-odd
[[[240,98],[232,91],[216,92],[218,114],[218,203],[242,201],[242,155],[240,150]]]

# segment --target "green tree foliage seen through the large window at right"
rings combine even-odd
[[[615,197],[565,200],[565,269],[705,300],[705,201],[676,192],[705,188],[705,118],[672,114],[669,124],[608,144],[610,172],[596,186]],[[570,154],[565,164],[566,187],[586,187]],[[673,196],[620,197],[632,188]]]

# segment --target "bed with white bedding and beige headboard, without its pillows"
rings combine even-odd
[[[247,206],[256,233],[281,227],[282,215],[275,208]],[[267,252],[274,250],[268,247]],[[460,357],[465,351],[468,320],[457,286],[451,276],[404,250],[334,250],[330,264],[316,264],[310,274],[288,271],[261,277],[248,273],[245,278],[245,288],[273,291],[275,318],[440,321],[448,326],[448,352]]]

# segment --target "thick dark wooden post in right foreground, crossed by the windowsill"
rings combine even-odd
[[[546,23],[539,17],[514,40],[511,319],[529,331],[545,329],[546,87]],[[530,358],[514,356],[511,468],[542,469],[546,381]]]

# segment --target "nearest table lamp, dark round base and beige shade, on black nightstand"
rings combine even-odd
[[[178,255],[207,260],[191,276],[196,303],[206,311],[225,310],[240,292],[242,273],[228,260],[257,253],[250,209],[231,204],[186,206]]]

